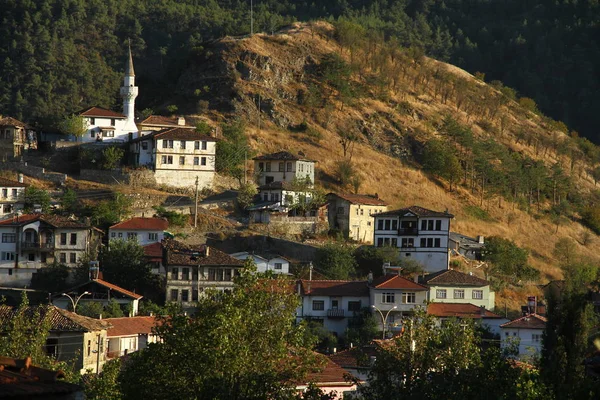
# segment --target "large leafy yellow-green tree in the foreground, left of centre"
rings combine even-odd
[[[243,272],[231,292],[201,297],[193,317],[166,317],[161,341],[133,353],[119,377],[124,399],[293,398],[318,361],[288,285]]]

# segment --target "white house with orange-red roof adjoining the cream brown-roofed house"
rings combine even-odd
[[[394,332],[402,328],[402,319],[414,313],[416,307],[425,307],[429,289],[398,274],[387,274],[369,283],[371,311],[380,317],[383,329]],[[386,318],[387,316],[387,318]]]

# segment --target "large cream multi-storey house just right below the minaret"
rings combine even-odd
[[[189,128],[166,128],[131,141],[135,166],[154,171],[158,184],[211,187],[215,176],[217,139]]]

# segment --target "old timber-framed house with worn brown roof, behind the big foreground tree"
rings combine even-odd
[[[167,271],[166,301],[193,310],[199,296],[207,289],[233,288],[233,278],[240,274],[243,261],[213,247],[190,247],[173,239],[163,240],[164,265]]]

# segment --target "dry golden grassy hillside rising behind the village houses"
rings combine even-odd
[[[386,66],[387,61],[376,59],[376,52],[343,48],[333,37],[333,27],[320,22],[294,24],[275,35],[215,41],[190,61],[178,92],[194,97],[203,88],[197,98],[209,103],[207,115],[215,121],[243,116],[256,152],[288,149],[317,160],[318,183],[326,190],[350,190],[340,187],[336,163],[344,159],[341,135],[354,132],[357,141],[346,159],[363,178],[360,192],[377,193],[394,208],[411,204],[447,208],[456,215],[453,230],[510,238],[530,251],[531,264],[542,272],[541,282],[561,277],[552,250],[562,237],[575,240],[588,260],[597,260],[599,244],[582,239],[589,230],[577,222],[577,214],[556,224],[547,216],[553,202],[573,197],[573,188],[579,196],[587,196],[595,187],[593,166],[573,147],[575,142],[560,124],[513,99],[498,100],[501,85],[489,86],[454,66],[406,54],[396,55],[397,65]],[[321,67],[324,60],[331,63],[331,54],[341,54],[354,66],[348,80],[360,87],[360,94],[344,98],[340,83],[336,87],[333,78],[325,77]],[[387,77],[383,84],[377,80],[381,74]],[[462,94],[460,85],[467,88]],[[316,87],[329,96],[307,100]],[[554,198],[539,200],[538,195],[534,204],[531,189],[511,202],[510,196],[486,192],[485,184],[492,178],[479,181],[465,172],[462,184],[450,191],[447,180],[424,173],[419,163],[429,140],[447,140],[442,131],[448,117],[470,128],[474,141],[500,145],[509,157],[540,162],[547,169],[561,167],[572,182],[570,189],[560,192],[554,180]],[[485,157],[492,165],[500,160],[492,152]],[[529,198],[528,204],[523,197]],[[534,289],[516,290],[501,297],[522,299]]]

